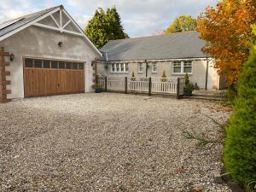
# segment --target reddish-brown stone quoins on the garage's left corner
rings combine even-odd
[[[10,75],[10,72],[6,71],[6,66],[9,66],[9,62],[5,61],[5,56],[9,56],[8,52],[4,52],[3,47],[0,48],[0,103],[9,102],[7,94],[11,93],[11,90],[7,90],[6,85],[11,84],[9,80],[6,80],[6,76]]]

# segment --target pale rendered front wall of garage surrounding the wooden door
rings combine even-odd
[[[60,41],[63,43],[61,48],[58,46]],[[10,62],[9,67],[6,67],[6,70],[11,73],[7,77],[11,80],[7,89],[12,91],[8,98],[24,97],[23,58],[26,56],[86,62],[84,65],[85,91],[91,90],[91,84],[93,84],[91,61],[98,58],[98,55],[83,37],[29,26],[1,41],[0,47],[4,47],[9,54],[15,55],[15,60]]]

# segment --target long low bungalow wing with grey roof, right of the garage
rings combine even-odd
[[[142,38],[113,40],[102,47],[99,75],[137,79],[161,77],[183,78],[185,73],[199,88],[219,89],[219,75],[213,61],[203,54],[205,42],[198,32],[180,32]]]

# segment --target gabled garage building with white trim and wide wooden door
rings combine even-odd
[[[93,91],[101,58],[62,5],[0,23],[0,102]]]

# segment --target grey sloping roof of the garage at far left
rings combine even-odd
[[[5,34],[7,34],[9,32],[14,31],[15,29],[19,28],[20,26],[26,25],[27,23],[31,22],[32,20],[38,19],[39,17],[49,13],[50,11],[52,11],[56,8],[58,8],[58,6],[50,8],[50,9],[44,9],[42,11],[38,11],[38,12],[33,13],[31,15],[25,15],[25,16],[22,16],[20,18],[14,19],[14,21],[18,20],[18,19],[20,19],[20,20],[18,20],[17,22],[15,22],[14,24],[12,24],[10,26],[6,26],[3,29],[0,29],[0,37],[4,36]],[[5,23],[8,23],[10,21],[12,21],[12,20],[5,21],[5,22],[1,23],[1,25],[5,24]]]

